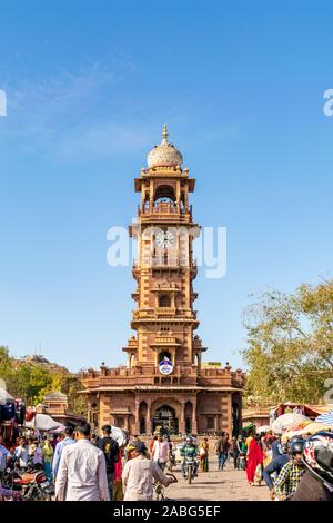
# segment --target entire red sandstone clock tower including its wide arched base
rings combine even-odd
[[[82,375],[88,418],[99,428],[110,423],[141,435],[160,430],[238,435],[241,428],[244,373],[229,363],[204,363],[206,348],[195,334],[193,240],[200,227],[190,204],[195,180],[182,164],[164,126],[161,144],[134,179],[141,203],[130,226],[137,240],[135,335],[123,347],[127,365],[110,368],[103,363],[100,371]],[[216,333],[221,339],[218,326]]]

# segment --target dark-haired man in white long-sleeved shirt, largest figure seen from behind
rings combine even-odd
[[[75,445],[62,450],[56,480],[57,501],[109,501],[104,454],[90,442],[90,425],[77,426]]]

